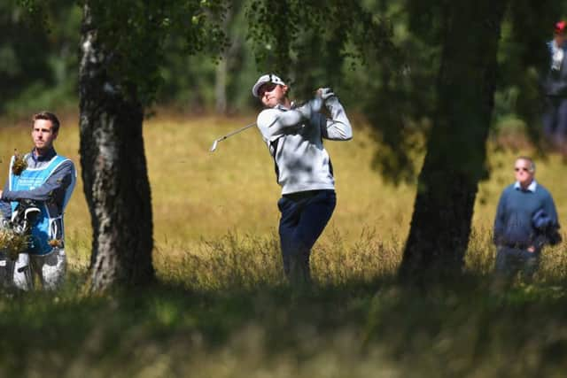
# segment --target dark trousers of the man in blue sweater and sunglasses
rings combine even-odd
[[[526,251],[521,248],[501,246],[496,254],[496,274],[512,278],[523,272],[524,278],[530,280],[540,267],[540,251]]]

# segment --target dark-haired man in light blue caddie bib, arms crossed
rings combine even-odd
[[[73,162],[57,154],[53,147],[59,120],[50,112],[32,118],[34,149],[23,157],[25,164],[12,158],[8,181],[0,190],[0,210],[4,222],[13,220],[20,202],[32,202],[41,211],[31,225],[27,253],[15,262],[13,284],[32,289],[34,275],[43,289],[57,289],[66,273],[63,215],[73,193],[76,171]]]

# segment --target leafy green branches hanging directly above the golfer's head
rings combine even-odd
[[[257,65],[281,74],[299,98],[325,85],[339,89],[346,59],[360,62],[369,46],[378,56],[392,47],[390,24],[359,2],[252,0],[246,17]]]

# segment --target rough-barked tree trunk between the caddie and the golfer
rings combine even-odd
[[[88,2],[83,11],[81,165],[93,228],[91,289],[144,284],[154,279],[144,107],[113,80],[116,54],[97,39]]]

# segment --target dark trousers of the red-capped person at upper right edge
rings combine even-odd
[[[567,98],[547,96],[543,113],[543,132],[555,147],[565,148],[567,143]]]

